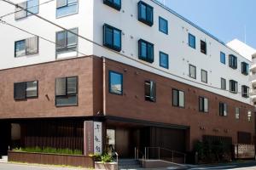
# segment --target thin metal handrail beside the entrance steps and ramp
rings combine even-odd
[[[176,163],[186,163],[186,154],[176,150],[170,150],[161,147],[145,147],[145,160],[163,160]],[[177,162],[177,161],[182,162]]]

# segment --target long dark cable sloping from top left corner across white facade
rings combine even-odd
[[[218,90],[224,91],[224,89],[222,89],[222,88],[217,88],[217,87],[214,87],[214,86],[210,86],[210,85],[208,85],[208,84],[206,84],[206,83],[202,83],[202,82],[195,82],[195,81],[190,80],[190,79],[188,79],[188,78],[184,78],[184,77],[181,77],[181,76],[177,76],[177,75],[175,75],[175,74],[172,74],[172,73],[170,73],[170,72],[163,71],[163,70],[161,70],[161,69],[159,69],[159,68],[156,68],[156,67],[154,67],[154,66],[152,66],[152,65],[145,64],[145,63],[143,63],[143,62],[140,61],[140,60],[132,59],[132,58],[131,58],[130,56],[128,56],[128,55],[121,54],[121,53],[119,53],[119,52],[117,52],[117,51],[114,51],[113,49],[110,49],[110,48],[107,48],[107,47],[105,47],[105,46],[102,46],[102,44],[100,44],[100,43],[98,43],[98,42],[94,42],[94,41],[90,40],[89,38],[83,37],[83,36],[79,35],[78,33],[75,33],[75,32],[73,32],[73,31],[70,31],[70,30],[68,30],[67,28],[65,28],[65,27],[63,27],[63,26],[60,26],[60,25],[56,24],[56,23],[53,22],[53,21],[50,21],[50,20],[48,20],[48,19],[45,19],[44,17],[42,17],[42,16],[40,16],[40,15],[38,15],[38,14],[33,14],[32,12],[30,12],[30,11],[27,10],[26,8],[22,8],[22,7],[20,7],[20,5],[15,4],[15,3],[11,2],[10,0],[2,0],[2,1],[5,2],[5,3],[9,3],[9,4],[11,4],[11,5],[15,6],[15,7],[21,8],[21,9],[25,10],[27,13],[32,14],[32,15],[38,17],[38,19],[44,20],[45,22],[48,22],[49,24],[51,24],[51,25],[53,25],[53,26],[59,27],[59,28],[61,28],[62,30],[67,31],[67,32],[69,32],[69,33],[75,35],[76,37],[80,37],[80,38],[84,39],[85,41],[91,42],[91,43],[95,44],[96,46],[99,46],[99,47],[101,47],[101,48],[104,48],[104,49],[106,49],[106,50],[112,52],[113,54],[121,55],[121,56],[125,57],[126,59],[131,59],[131,60],[133,60],[133,61],[136,61],[137,63],[140,63],[140,64],[142,64],[142,65],[146,65],[146,66],[148,66],[148,67],[150,67],[150,68],[152,68],[152,69],[154,69],[154,70],[161,71],[161,72],[164,72],[164,73],[166,73],[166,74],[168,74],[168,75],[171,75],[172,77],[177,77],[177,78],[179,78],[179,79],[182,79],[182,80],[185,80],[185,81],[188,81],[188,82],[193,82],[193,83],[195,83],[195,84],[199,84],[199,85],[204,86],[204,87],[207,87],[207,88],[214,88],[214,89],[218,89]],[[183,83],[186,83],[186,82],[183,82]],[[188,83],[186,83],[186,84],[188,84]],[[190,85],[190,84],[189,84],[189,85]],[[225,90],[225,91],[229,91],[229,90]]]

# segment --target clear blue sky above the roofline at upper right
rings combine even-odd
[[[159,0],[163,2],[164,0]],[[224,42],[256,48],[256,0],[166,0],[166,6]]]

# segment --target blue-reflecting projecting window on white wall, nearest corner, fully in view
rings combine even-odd
[[[113,26],[103,26],[103,45],[115,51],[121,51],[121,32]]]

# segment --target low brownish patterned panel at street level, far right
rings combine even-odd
[[[235,158],[254,158],[255,147],[253,144],[234,144]]]

